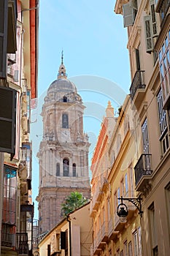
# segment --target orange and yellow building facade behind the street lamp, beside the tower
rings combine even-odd
[[[108,110],[109,105],[107,113]],[[124,199],[138,196],[134,184],[136,148],[129,96],[125,98],[119,115],[114,116],[112,110],[110,117],[104,118],[92,159],[90,217],[93,218],[93,244],[90,255],[142,256],[142,246],[139,246],[142,230],[136,206],[123,201],[128,216],[121,219],[117,215],[117,211],[125,207],[121,205],[121,196]]]

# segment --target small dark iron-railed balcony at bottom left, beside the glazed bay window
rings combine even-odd
[[[16,251],[18,255],[28,255],[28,234],[16,233]]]

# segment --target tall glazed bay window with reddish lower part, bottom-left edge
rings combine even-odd
[[[16,222],[17,171],[4,165],[1,244],[12,247]]]

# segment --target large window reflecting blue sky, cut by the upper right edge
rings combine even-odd
[[[158,53],[159,56],[159,70],[161,77],[161,88],[163,92],[163,108],[169,109],[169,94],[170,94],[170,37],[169,34],[162,44],[161,50]]]

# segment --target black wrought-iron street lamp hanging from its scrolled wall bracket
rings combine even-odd
[[[120,198],[117,198],[117,199],[121,200],[121,203],[117,206],[117,215],[118,217],[120,217],[122,222],[125,222],[126,217],[128,216],[128,207],[125,205],[125,203],[123,203],[123,200],[133,203],[134,206],[136,206],[136,208],[139,210],[139,214],[142,217],[143,211],[142,211],[141,196],[137,198],[127,198],[127,197],[123,198],[123,196],[121,196]]]

